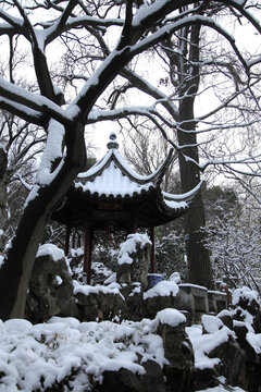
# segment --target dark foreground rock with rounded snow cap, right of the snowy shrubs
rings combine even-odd
[[[99,392],[192,392],[194,354],[185,332],[185,317],[175,309],[160,311],[153,322],[153,330],[163,341],[166,359],[163,368],[151,359],[144,360],[138,355],[137,364],[145,373],[139,375],[129,369],[104,371],[102,384],[94,391]]]

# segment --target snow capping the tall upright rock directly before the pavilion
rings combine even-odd
[[[119,257],[117,257],[117,264],[121,266],[123,264],[133,264],[132,257],[129,255],[137,252],[137,245],[139,244],[140,248],[142,249],[145,245],[150,244],[151,241],[149,240],[147,234],[129,234],[127,236],[127,240],[121,244]]]

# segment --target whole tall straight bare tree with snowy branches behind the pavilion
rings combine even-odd
[[[222,4],[212,3],[207,8],[206,3],[198,2],[195,7],[198,7],[201,15],[217,19],[222,15],[229,22],[231,11]],[[179,9],[181,14],[186,12],[189,12],[188,7]],[[152,122],[150,131],[152,132],[157,123],[157,127],[161,130],[165,139],[176,147],[184,192],[188,192],[200,182],[201,172],[210,164],[214,164],[223,173],[229,170],[235,174],[238,164],[253,168],[260,162],[257,148],[256,150],[249,148],[257,139],[257,126],[260,122],[260,109],[257,105],[259,76],[256,72],[252,75],[252,82],[249,83],[249,78],[244,75],[241,64],[227,46],[221,41],[217,49],[222,48],[222,52],[216,53],[215,48],[214,54],[214,45],[216,47],[214,38],[210,39],[210,42],[207,41],[203,26],[186,26],[156,48],[166,69],[166,77],[160,78],[157,87],[149,84],[140,74],[130,69],[124,69],[122,76],[128,83],[117,86],[110,97],[115,117],[119,113],[115,110],[116,102],[123,95],[126,96],[127,91],[130,91],[129,95],[133,94],[134,87],[158,98],[158,103],[147,108],[137,108],[136,113],[145,115],[147,112],[147,117]],[[163,87],[171,86],[169,97],[162,91],[162,85]],[[219,105],[198,117],[195,114],[195,103],[203,95],[204,89],[210,89],[210,96],[219,99]],[[166,110],[167,118],[160,115],[157,110],[160,105]],[[135,108],[126,109],[126,113],[134,114]],[[135,125],[136,122],[132,121],[133,127],[144,126],[144,120],[139,125]],[[250,136],[251,126],[254,130]],[[166,127],[171,130],[171,133],[167,133]],[[207,134],[209,136],[202,138],[202,135]],[[145,143],[148,144],[148,140]],[[146,145],[141,147],[140,144],[139,150],[141,151],[145,147]],[[203,163],[199,162],[200,156],[204,159]],[[148,167],[149,162],[144,163]],[[137,162],[135,164],[137,167]],[[253,171],[249,170],[249,175],[252,174]],[[209,252],[203,245],[204,233],[201,230],[204,224],[203,203],[199,195],[190,211],[185,216],[189,281],[213,287]]]

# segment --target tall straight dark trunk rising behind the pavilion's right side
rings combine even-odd
[[[181,11],[185,11],[185,9]],[[199,25],[192,25],[178,32],[177,53],[173,50],[172,40],[169,40],[165,46],[165,53],[170,59],[171,81],[174,87],[178,85],[179,108],[178,119],[176,119],[179,124],[177,128],[178,145],[188,146],[184,147],[182,152],[196,162],[195,164],[185,159],[183,154],[178,155],[183,192],[189,192],[200,182],[200,171],[197,167],[199,161],[197,134],[194,132],[196,130],[195,97],[200,83],[200,28]],[[206,221],[201,193],[185,215],[184,225],[189,281],[213,289],[210,256],[203,245]]]

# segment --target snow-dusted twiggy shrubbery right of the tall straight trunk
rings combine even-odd
[[[243,197],[238,186],[236,193],[233,188],[212,191],[215,197],[208,208],[211,213],[206,244],[212,254],[215,279],[231,287],[243,284],[260,293],[260,205],[246,192]]]

